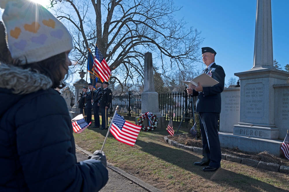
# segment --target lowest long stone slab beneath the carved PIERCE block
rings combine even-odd
[[[220,132],[219,135],[221,147],[239,148],[241,151],[260,153],[267,151],[270,154],[280,157],[282,154],[282,140],[269,140],[253,137],[244,137],[233,135],[232,133]]]

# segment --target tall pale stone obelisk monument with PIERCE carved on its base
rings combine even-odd
[[[257,1],[253,68],[235,75],[241,82],[240,122],[233,125],[233,134],[220,134],[221,146],[280,156],[273,85],[286,83],[289,73],[273,66],[270,0]]]

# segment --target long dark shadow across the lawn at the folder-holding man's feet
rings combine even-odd
[[[223,187],[234,187],[240,189],[240,191],[281,191],[287,190],[280,189],[273,185],[267,184],[255,178],[238,174],[223,168],[218,169],[216,172],[203,172],[204,166],[197,166],[193,163],[200,161],[201,157],[191,154],[186,150],[179,148],[170,148],[157,143],[144,142],[138,140],[136,143],[141,147],[140,150],[147,152],[153,156],[156,156],[168,163],[172,163],[186,169],[189,172],[198,174],[199,176],[209,179],[213,182],[222,185]],[[169,173],[167,173],[169,174]]]

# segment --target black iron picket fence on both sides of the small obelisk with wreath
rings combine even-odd
[[[172,118],[172,121],[180,122],[185,115],[184,120],[186,121],[193,117],[193,110],[196,110],[195,98],[192,98],[187,92],[161,93],[158,94],[158,100],[159,112],[165,117],[165,120]],[[126,95],[113,96],[109,110],[111,117],[117,105],[119,106],[119,115],[124,116],[126,120],[135,120],[141,113],[141,95],[129,92]]]

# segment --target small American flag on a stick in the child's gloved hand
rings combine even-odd
[[[140,131],[141,126],[127,122],[119,114],[115,114],[110,132],[117,141],[134,146]]]

